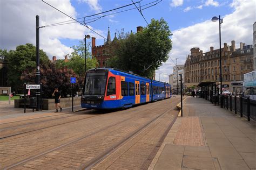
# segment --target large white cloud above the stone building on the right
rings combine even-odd
[[[224,42],[231,45],[232,40],[235,40],[237,48],[239,48],[240,42],[253,44],[254,2],[233,0],[231,5],[234,8],[233,13],[221,17],[224,20],[221,24],[221,47],[224,46]],[[178,64],[184,64],[187,54],[190,54],[190,49],[193,47],[199,47],[203,52],[210,51],[210,46],[213,46],[214,49],[219,48],[219,25],[217,22],[211,22],[210,19],[172,32],[173,46],[170,56],[173,60],[179,58]],[[174,64],[171,59],[166,63]],[[160,72],[171,74],[173,66],[170,65],[161,66]],[[158,74],[156,79],[158,80]],[[169,81],[163,75],[160,75],[160,80]]]

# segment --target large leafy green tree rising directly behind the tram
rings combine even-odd
[[[108,65],[122,70],[151,77],[154,70],[166,62],[172,49],[172,36],[163,18],[152,19],[143,31],[136,34],[119,34],[119,41],[113,47],[113,58]]]

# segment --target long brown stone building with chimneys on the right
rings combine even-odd
[[[200,82],[220,83],[219,49],[210,47],[203,53],[198,47],[191,48],[191,55],[185,62],[185,86],[198,86]],[[240,48],[224,43],[221,48],[221,65],[223,88],[232,92],[242,91],[242,81],[245,73],[253,70],[253,46],[240,42]]]

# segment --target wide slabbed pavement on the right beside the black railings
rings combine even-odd
[[[255,122],[187,97],[149,169],[256,169]]]

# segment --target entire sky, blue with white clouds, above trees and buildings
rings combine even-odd
[[[131,0],[44,0],[62,10],[73,18],[93,15],[98,12],[118,8],[132,3]],[[137,2],[134,0],[134,2]],[[154,0],[140,1],[140,5]],[[159,1],[158,1],[159,2]],[[171,58],[179,58],[178,64],[184,64],[190,49],[199,47],[203,52],[219,48],[219,25],[211,22],[213,16],[220,15],[224,19],[221,24],[221,45],[231,45],[235,40],[236,47],[240,42],[253,44],[252,25],[255,22],[255,3],[253,0],[163,0],[151,8],[143,10],[148,23],[151,18],[163,17],[173,33],[173,45],[167,62],[156,70],[157,80],[169,81],[174,63]],[[153,3],[154,4],[154,3]],[[139,6],[139,4],[137,4]],[[135,8],[134,5],[119,9]],[[110,13],[107,13],[110,14]],[[9,0],[0,1],[0,48],[15,49],[17,45],[36,44],[36,15],[40,16],[40,25],[70,20],[59,11],[51,8],[41,0]],[[103,37],[107,37],[110,26],[111,39],[114,32],[124,29],[125,32],[136,32],[137,26],[147,24],[137,9],[103,17],[87,24]],[[70,46],[79,44],[85,34],[96,37],[96,45],[103,45],[104,39],[78,23],[45,27],[40,29],[40,48],[51,59],[53,55],[63,59],[72,52]],[[91,40],[89,40],[90,42]]]

